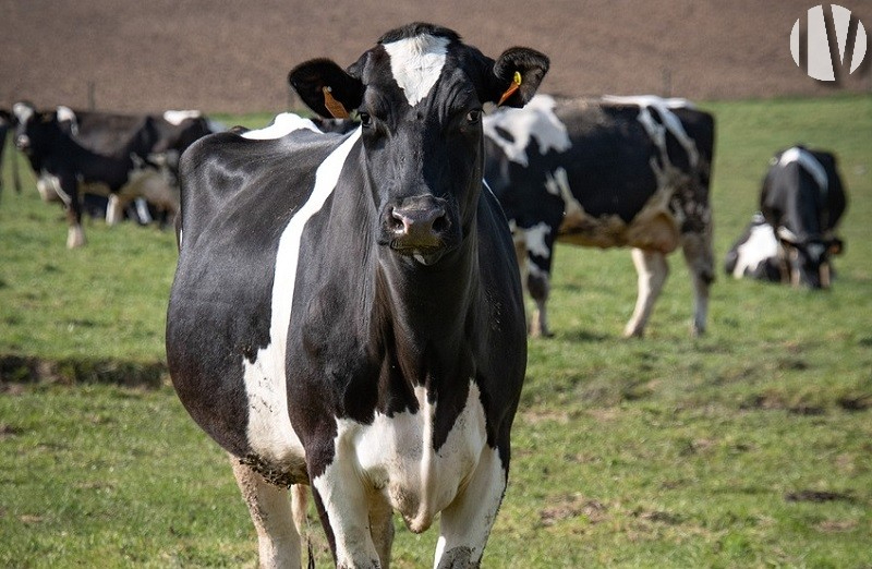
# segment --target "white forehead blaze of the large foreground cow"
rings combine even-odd
[[[414,107],[439,80],[449,39],[422,35],[384,44],[390,56],[390,71],[397,85]]]

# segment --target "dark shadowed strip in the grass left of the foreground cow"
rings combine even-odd
[[[73,359],[49,361],[27,355],[0,354],[0,389],[3,384],[13,383],[92,383],[157,388],[167,375],[167,365],[164,362]]]

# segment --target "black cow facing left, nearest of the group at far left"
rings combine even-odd
[[[66,131],[58,111],[39,112],[26,105],[13,107],[17,119],[15,145],[27,156],[38,172],[37,189],[45,197],[57,194],[64,204],[69,222],[66,246],[85,244],[82,229],[83,193],[110,196],[107,222],[121,218],[122,205],[136,196],[162,202],[168,207],[178,203],[165,170],[150,161],[156,125],[146,119],[126,144],[114,155],[98,154],[83,147]],[[112,196],[121,196],[111,199]]]

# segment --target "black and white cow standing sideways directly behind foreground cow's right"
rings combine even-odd
[[[714,119],[685,99],[537,95],[484,119],[485,179],[506,210],[533,336],[550,336],[546,302],[556,241],[632,247],[639,294],[626,337],[640,337],[681,246],[693,282],[692,334],[705,330],[714,280],[708,183]]]

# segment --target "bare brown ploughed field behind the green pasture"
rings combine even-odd
[[[291,66],[353,62],[412,21],[459,32],[495,57],[552,58],[543,89],[729,99],[872,92],[872,49],[839,86],[790,57],[815,0],[0,0],[0,107],[27,99],[116,111],[280,111]],[[872,2],[843,0],[872,44]],[[828,12],[828,10],[827,10]],[[851,33],[853,34],[853,32]],[[852,35],[850,36],[852,37]]]

